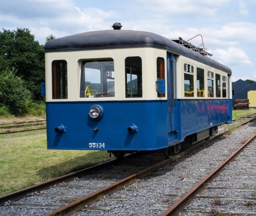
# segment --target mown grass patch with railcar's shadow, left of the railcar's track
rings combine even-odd
[[[0,196],[108,159],[106,151],[48,150],[45,130],[0,135]]]

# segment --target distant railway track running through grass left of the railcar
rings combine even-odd
[[[0,134],[46,129],[46,120],[0,124]]]

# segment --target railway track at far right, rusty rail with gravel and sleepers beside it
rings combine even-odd
[[[248,207],[253,206],[253,203],[256,203],[256,169],[252,168],[250,169],[252,172],[250,172],[245,167],[245,165],[252,167],[256,166],[255,160],[253,160],[256,158],[255,138],[256,134],[253,135],[251,139],[246,141],[238,149],[236,149],[228,158],[220,159],[223,162],[221,162],[202,180],[184,179],[185,181],[193,181],[198,183],[191,188],[187,187],[187,189],[190,190],[178,201],[176,201],[168,210],[166,210],[162,216],[178,215],[180,213],[180,209],[183,208],[185,208],[185,210],[182,214],[179,215],[187,215],[188,212],[194,212],[194,215],[198,215],[198,213],[212,213],[212,215],[217,215],[220,213],[232,213],[234,215],[256,215],[256,209],[254,209],[254,211],[246,211],[236,208],[237,206],[239,207],[239,205],[241,205],[239,202],[244,202],[244,206]],[[248,148],[244,150],[246,147]],[[239,155],[242,151],[243,154]],[[252,162],[252,164],[248,164],[248,161]],[[233,168],[234,163],[238,163],[241,166],[235,165],[236,168]],[[238,169],[238,172],[234,173],[233,171],[237,170],[237,167],[240,167],[240,169]],[[245,170],[243,174],[239,174],[241,167],[242,170]],[[247,180],[244,180],[244,178]],[[241,186],[231,186],[233,183],[237,185],[240,184]],[[198,192],[201,191],[202,193],[198,194]],[[223,193],[224,191],[236,191],[236,194],[233,195],[234,193],[232,192]],[[229,195],[223,196],[223,194]],[[190,203],[191,199],[194,198],[196,198],[196,200]],[[202,199],[204,200],[202,201]],[[230,201],[237,203],[229,204]],[[186,204],[189,205],[185,206]],[[224,206],[224,208],[220,208],[220,206]]]

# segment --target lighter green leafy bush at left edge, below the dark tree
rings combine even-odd
[[[15,76],[14,68],[0,72],[0,104],[5,111],[15,116],[27,114],[26,102],[31,99],[31,92],[25,87],[24,81]]]

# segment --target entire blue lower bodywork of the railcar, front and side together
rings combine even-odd
[[[93,120],[88,112],[100,105],[103,116]],[[47,102],[48,149],[139,151],[167,148],[186,136],[232,122],[232,100],[178,99],[177,127],[170,131],[167,101]],[[138,132],[127,129],[133,124]],[[55,127],[60,131],[55,132]],[[95,130],[97,129],[97,130]]]

